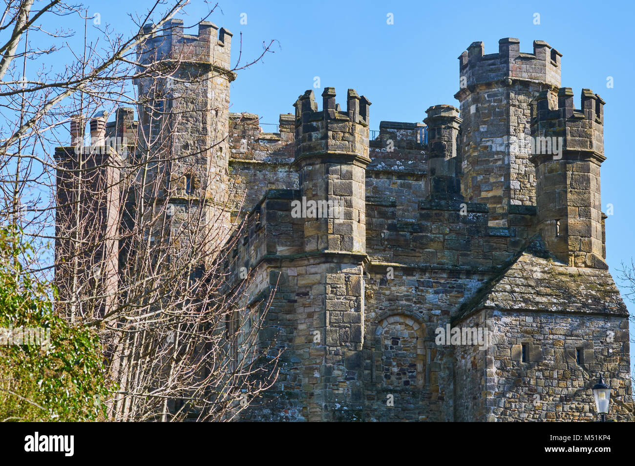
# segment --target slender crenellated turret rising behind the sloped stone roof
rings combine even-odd
[[[538,228],[560,261],[606,269],[600,196],[605,102],[583,89],[576,110],[571,88],[560,88],[558,106],[549,93],[541,92],[532,105]]]

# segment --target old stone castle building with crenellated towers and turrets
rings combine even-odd
[[[229,199],[216,228],[240,236],[230,284],[249,271],[259,344],[283,351],[246,420],[593,420],[599,375],[611,416],[632,420],[628,312],[605,262],[605,102],[584,89],[575,108],[561,53],[475,42],[458,58],[458,108],[369,137],[371,102],[349,89],[338,104],[327,87],[321,107],[315,90],[282,102],[295,111],[270,133],[229,112],[231,38],[173,20],[154,49],[213,76],[182,90],[195,116],[173,147],[220,143],[173,174]],[[93,121],[132,135],[133,117]]]

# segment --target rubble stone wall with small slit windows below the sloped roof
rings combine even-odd
[[[632,420],[627,317],[493,310],[488,319],[487,420],[593,421],[598,374],[612,388],[614,418]]]

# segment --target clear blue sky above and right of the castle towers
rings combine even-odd
[[[141,12],[150,3],[88,0],[86,5],[102,22],[125,32],[131,25],[126,13]],[[193,0],[187,9],[190,24],[207,10],[202,0]],[[241,24],[241,13],[247,24]],[[394,24],[387,24],[387,13],[394,15]],[[540,14],[539,25],[534,13]],[[275,53],[240,71],[231,88],[231,111],[257,113],[263,123],[277,123],[279,113],[293,111],[314,76],[322,88],[335,86],[340,103],[349,87],[366,95],[373,102],[371,129],[381,120],[422,121],[431,105],[458,106],[453,98],[457,57],[473,41],[483,41],[485,53],[497,52],[504,37],[520,39],[522,52],[533,51],[535,39],[547,41],[563,54],[562,85],[573,88],[576,106],[582,88],[606,100],[602,203],[605,211],[613,204],[606,252],[615,277],[620,261],[635,256],[634,17],[632,1],[235,0],[221,1],[210,20],[234,33],[234,62],[240,32],[246,60],[260,55],[263,41],[276,39]],[[187,25],[188,17],[183,18]],[[608,76],[613,88],[606,86]],[[627,304],[635,312],[635,305]]]

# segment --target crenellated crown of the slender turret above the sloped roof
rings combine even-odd
[[[589,151],[599,154],[603,160],[605,101],[590,89],[582,89],[581,109],[576,110],[569,87],[559,89],[558,107],[552,104],[555,99],[549,97],[552,97],[550,91],[545,90],[533,101],[531,136],[534,139],[561,137],[563,150]]]

